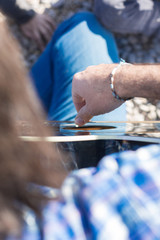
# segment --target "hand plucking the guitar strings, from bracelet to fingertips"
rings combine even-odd
[[[110,88],[110,74],[116,64],[90,66],[74,75],[73,102],[78,112],[75,124],[82,126],[93,116],[114,110],[122,104],[115,99]]]

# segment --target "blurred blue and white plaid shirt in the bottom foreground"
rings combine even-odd
[[[104,157],[97,168],[74,171],[59,201],[43,211],[45,240],[159,240],[160,146]],[[23,240],[40,239],[26,216]]]

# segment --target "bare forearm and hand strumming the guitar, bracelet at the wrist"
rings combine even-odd
[[[117,99],[112,90],[122,99],[160,99],[160,64],[117,66],[100,64],[74,75],[72,97],[78,112],[75,119],[77,125],[82,126],[93,116],[118,108],[123,101]]]

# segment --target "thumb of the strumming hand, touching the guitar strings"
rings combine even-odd
[[[83,126],[85,123],[89,122],[89,120],[93,116],[87,110],[87,105],[83,106],[80,111],[78,112],[75,118],[75,124],[78,126]]]

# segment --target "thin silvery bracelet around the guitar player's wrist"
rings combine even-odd
[[[125,101],[127,101],[127,100],[130,100],[131,98],[126,98],[126,99],[121,98],[120,96],[118,96],[118,94],[116,93],[115,88],[114,88],[114,75],[115,75],[117,69],[118,69],[119,67],[123,66],[123,65],[132,65],[132,64],[131,64],[131,63],[126,63],[125,60],[123,60],[123,59],[121,58],[120,63],[118,64],[118,66],[115,67],[115,68],[112,70],[111,74],[110,74],[110,87],[111,87],[111,90],[112,90],[112,95],[113,95],[116,99],[125,102]]]

